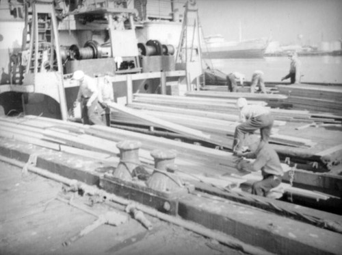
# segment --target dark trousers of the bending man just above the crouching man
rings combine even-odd
[[[271,114],[261,114],[257,117],[248,119],[248,121],[245,121],[240,125],[237,125],[237,127],[235,127],[233,151],[241,150],[241,147],[244,145],[246,134],[252,133],[259,129],[261,141],[267,143],[269,141],[269,136],[271,136],[273,122],[274,119]]]

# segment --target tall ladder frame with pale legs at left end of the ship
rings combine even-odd
[[[23,86],[52,97],[60,104],[62,119],[68,118],[63,66],[53,0],[25,2],[25,29],[21,52]]]

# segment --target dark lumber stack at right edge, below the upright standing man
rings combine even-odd
[[[315,112],[342,114],[341,86],[311,86],[308,84],[278,85],[279,93],[287,95],[293,108]]]

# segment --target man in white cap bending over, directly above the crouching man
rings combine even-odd
[[[260,129],[261,141],[268,143],[274,119],[268,108],[248,104],[244,97],[237,99],[236,106],[240,111],[239,122],[241,124],[235,127],[233,154],[238,156],[244,145],[245,136],[255,130]]]

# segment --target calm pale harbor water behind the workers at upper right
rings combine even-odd
[[[302,82],[324,82],[342,84],[342,56],[300,56],[302,62]],[[266,82],[280,82],[289,72],[290,60],[287,56],[265,57],[261,59],[215,59],[205,60],[209,66],[224,73],[237,71],[250,81],[255,70],[265,73]],[[284,82],[289,82],[285,80]],[[280,82],[281,83],[281,82]]]

